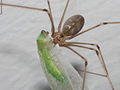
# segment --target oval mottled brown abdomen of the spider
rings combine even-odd
[[[77,34],[84,25],[84,17],[81,15],[71,16],[63,25],[63,35],[71,36]]]

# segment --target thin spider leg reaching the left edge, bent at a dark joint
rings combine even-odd
[[[7,4],[7,3],[0,3],[2,4],[3,6],[10,6],[10,7],[17,7],[17,8],[24,8],[24,9],[31,9],[31,10],[37,10],[37,11],[43,11],[43,12],[46,12],[49,16],[49,19],[51,21],[51,25],[52,27],[54,26],[53,24],[53,19],[51,17],[51,14],[50,12],[47,10],[47,9],[42,9],[42,8],[35,8],[35,7],[28,7],[28,6],[21,6],[21,5],[14,5],[14,4]],[[54,28],[53,28],[54,29]],[[54,33],[54,30],[52,29],[52,34]]]

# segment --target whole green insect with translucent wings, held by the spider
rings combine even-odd
[[[37,45],[40,62],[51,89],[81,90],[81,77],[70,64],[63,63],[55,55],[55,47],[48,32],[44,30],[41,32],[37,39]]]

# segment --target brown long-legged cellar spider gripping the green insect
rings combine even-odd
[[[92,31],[95,28],[98,28],[100,26],[109,25],[109,24],[120,24],[120,22],[102,22],[102,23],[94,25],[94,26],[92,26],[92,27],[90,27],[86,30],[81,31],[81,29],[84,25],[84,21],[85,21],[84,17],[82,15],[73,15],[66,20],[66,22],[63,25],[63,28],[61,29],[62,24],[63,24],[63,20],[64,20],[64,16],[65,16],[66,10],[67,10],[68,5],[69,5],[69,2],[70,2],[70,0],[67,0],[67,3],[65,5],[65,9],[64,9],[63,15],[61,17],[60,23],[58,25],[58,28],[57,28],[58,30],[57,31],[55,31],[54,20],[53,20],[52,10],[51,10],[49,0],[47,0],[48,9],[7,4],[7,3],[3,3],[2,0],[1,0],[0,5],[1,5],[1,14],[2,14],[2,6],[3,5],[4,6],[11,6],[11,7],[18,7],[18,8],[33,9],[33,10],[43,11],[43,12],[47,13],[47,15],[49,16],[50,22],[51,22],[52,42],[55,45],[58,44],[60,47],[65,47],[65,48],[71,50],[73,53],[77,54],[84,61],[84,70],[80,70],[80,71],[84,72],[82,90],[84,90],[84,87],[85,87],[85,81],[86,81],[86,74],[87,73],[102,76],[102,77],[106,77],[108,79],[108,82],[109,82],[112,90],[114,90],[114,86],[112,84],[112,81],[110,80],[108,70],[106,68],[100,46],[98,44],[93,44],[93,43],[69,42],[69,41],[66,41],[66,40],[71,40],[71,39],[73,39],[77,36],[80,36],[80,35],[82,35],[86,32]],[[96,48],[91,48],[89,46],[84,46],[84,45],[95,46],[97,49]],[[80,53],[75,51],[72,47],[79,47],[79,48],[84,48],[84,49],[95,51],[101,65],[102,65],[102,68],[105,71],[105,74],[99,74],[99,73],[88,71],[87,70],[88,60],[83,55],[81,55]]]

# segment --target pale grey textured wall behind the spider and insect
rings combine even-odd
[[[46,0],[3,0],[4,3],[47,8]],[[55,26],[60,21],[66,0],[50,0]],[[65,20],[74,15],[85,17],[82,30],[104,21],[120,21],[120,0],[70,0]],[[65,21],[64,20],[64,21]],[[46,13],[13,7],[3,7],[0,16],[0,88],[1,90],[49,90],[40,66],[36,38],[41,30],[50,32]],[[120,24],[106,25],[76,37],[72,41],[96,43],[101,50],[115,90],[120,89]],[[78,49],[88,61],[89,71],[104,73],[95,52]],[[83,68],[82,59],[60,48],[58,54]],[[87,75],[90,90],[111,90],[106,78]]]

